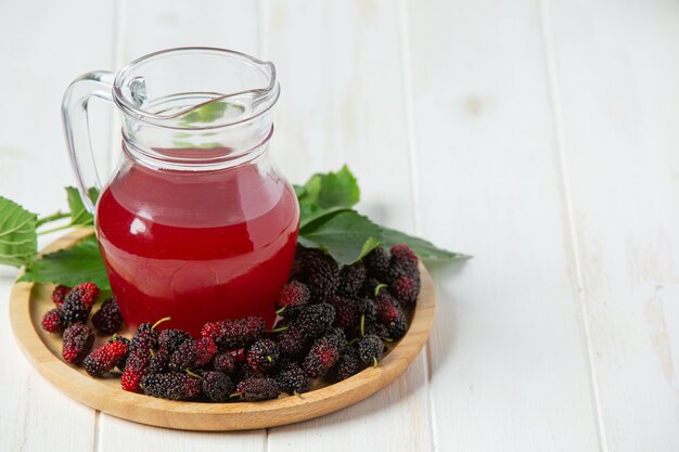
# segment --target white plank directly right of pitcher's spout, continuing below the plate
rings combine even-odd
[[[268,2],[265,56],[277,64],[282,86],[272,152],[283,173],[303,182],[347,163],[362,189],[360,210],[412,230],[396,7]],[[428,450],[428,423],[421,356],[397,382],[357,405],[270,429],[269,450]]]

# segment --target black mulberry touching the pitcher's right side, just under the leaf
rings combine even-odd
[[[340,268],[332,257],[320,249],[304,249],[299,257],[300,280],[311,290],[316,302],[326,300],[340,282]]]

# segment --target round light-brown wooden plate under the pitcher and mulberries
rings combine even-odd
[[[78,230],[48,246],[43,253],[66,248],[91,233]],[[410,328],[390,347],[377,367],[368,367],[344,382],[318,385],[300,396],[283,396],[265,402],[175,402],[126,392],[117,377],[97,379],[62,360],[61,337],[40,327],[40,319],[53,307],[53,285],[16,283],[10,299],[10,318],[18,345],[42,376],[71,398],[117,417],[187,430],[245,430],[310,419],[341,410],[379,391],[408,367],[427,340],[434,319],[435,294],[424,266],[422,292],[411,313]],[[105,338],[98,338],[103,341]]]

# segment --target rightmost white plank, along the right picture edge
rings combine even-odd
[[[552,3],[553,96],[607,450],[677,451],[679,4]]]

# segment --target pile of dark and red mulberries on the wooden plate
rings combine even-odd
[[[170,400],[268,400],[307,392],[317,378],[337,382],[376,366],[386,344],[406,334],[405,310],[420,285],[418,258],[407,245],[375,248],[342,268],[325,253],[299,246],[270,331],[264,319],[248,317],[206,323],[196,338],[167,328],[167,318],[141,324],[128,339],[115,334],[123,318],[110,298],[91,320],[113,337],[92,349],[87,322],[99,289],[91,283],[57,286],[56,308],[44,314],[42,327],[63,333],[64,360],[93,377],[117,369],[127,391]]]

